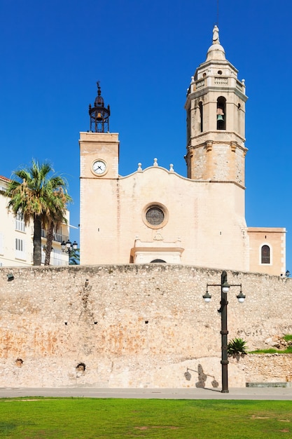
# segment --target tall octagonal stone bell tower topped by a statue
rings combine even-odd
[[[237,73],[225,58],[215,26],[207,59],[188,88],[186,164],[190,179],[233,182],[244,189],[247,97]]]

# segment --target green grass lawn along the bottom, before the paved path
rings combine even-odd
[[[0,399],[0,438],[292,438],[292,402]]]

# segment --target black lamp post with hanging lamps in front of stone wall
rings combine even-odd
[[[229,285],[227,281],[227,273],[223,271],[221,274],[221,283],[212,284],[207,283],[207,291],[203,295],[205,302],[210,302],[211,295],[208,292],[208,287],[221,287],[221,306],[218,313],[221,313],[221,369],[222,369],[222,393],[228,393],[228,326],[227,326],[227,293],[230,287],[240,287],[239,295],[237,295],[238,302],[244,302],[245,295],[242,294],[242,284]]]

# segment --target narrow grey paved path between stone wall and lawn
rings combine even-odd
[[[292,387],[243,387],[221,393],[217,389],[98,389],[96,387],[0,388],[0,398],[68,396],[78,398],[292,400]]]

